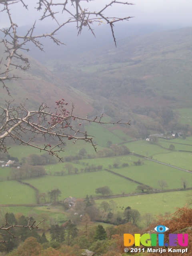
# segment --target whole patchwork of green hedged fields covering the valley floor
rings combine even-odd
[[[102,129],[104,129],[102,126],[98,126],[97,124],[95,124],[95,126],[93,127],[98,133]],[[97,127],[100,127],[101,130],[97,130]],[[114,134],[116,134],[116,136],[114,136]],[[124,135],[124,132],[122,132],[121,130],[113,130],[113,132],[105,133],[104,136],[100,138],[100,140],[102,140],[103,146],[106,146],[108,140],[113,139],[113,143],[122,142],[122,137]],[[128,137],[125,138],[129,140]],[[169,150],[168,148],[170,144],[174,144],[176,150]],[[146,156],[147,158],[150,158],[152,156],[152,160],[158,160],[160,162],[171,164],[173,166],[184,168],[186,170],[191,169],[192,153],[179,152],[177,150],[188,150],[192,145],[192,137],[187,137],[186,140],[183,140],[182,138],[177,138],[175,140],[169,141],[159,139],[158,144],[153,144],[147,142],[146,140],[136,140],[134,142],[127,142],[124,145],[130,148],[132,153],[141,154],[143,156]],[[123,177],[104,170],[104,168],[109,169],[109,165],[113,166],[114,163],[118,163],[118,168],[111,169],[113,172],[131,178],[138,182],[142,182],[143,184],[146,184],[148,186],[152,186],[154,189],[161,189],[158,186],[158,180],[165,180],[167,182],[168,187],[164,189],[182,188],[183,178],[188,181],[187,188],[192,187],[191,173],[184,172],[182,170],[178,170],[176,168],[166,166],[160,163],[156,163],[142,157],[134,156],[132,154],[125,156],[98,158],[98,155],[94,153],[92,146],[88,144],[88,147],[86,147],[84,142],[79,142],[75,146],[73,144],[68,145],[68,150],[63,153],[63,156],[76,155],[82,148],[86,148],[87,153],[92,155],[94,158],[82,159],[76,163],[72,162],[72,165],[75,168],[78,168],[78,174],[68,175],[68,171],[65,167],[66,162],[58,162],[53,165],[45,166],[46,172],[49,175],[42,176],[40,178],[27,179],[24,180],[24,182],[28,182],[38,188],[39,193],[47,193],[48,191],[58,188],[62,192],[61,197],[59,198],[60,200],[64,200],[69,196],[74,196],[76,198],[85,198],[87,194],[89,196],[99,196],[95,193],[95,190],[96,188],[102,186],[108,186],[112,190],[114,195],[122,194],[123,192],[125,194],[135,193],[136,187],[138,186],[137,183],[131,182]],[[100,149],[102,150],[103,148],[101,146],[98,146],[98,150]],[[21,160],[23,157],[27,157],[29,154],[39,154],[39,151],[34,148],[14,145],[10,149],[9,154],[11,156],[18,157],[19,160]],[[136,166],[134,164],[134,162],[138,161],[138,159],[142,161],[142,164],[140,166]],[[129,166],[123,168],[121,166],[123,163],[128,163]],[[84,172],[84,168],[92,165],[102,165],[103,170],[96,172]],[[65,171],[63,176],[54,175],[55,172],[60,172],[62,170]],[[4,180],[1,182],[0,186],[0,204],[36,204],[37,200],[34,189],[30,188],[29,186],[20,184],[16,181],[7,180],[7,176],[10,171],[11,168],[0,168],[0,177],[2,177],[2,180]],[[166,192],[160,194],[149,194],[144,196],[113,198],[113,200],[115,200],[119,205],[121,204],[121,208],[122,206],[126,207],[129,205],[132,208],[138,209],[142,214],[145,212],[152,212],[156,215],[159,213],[174,212],[174,207],[184,206],[184,204],[186,203],[186,198],[184,195],[187,193],[187,191],[169,193]],[[141,201],[136,200],[140,198],[142,198]],[[43,202],[42,198],[40,199],[40,202]],[[26,212],[24,210],[24,215],[28,215],[30,212],[34,212],[35,214],[47,213],[48,216],[52,216],[53,214],[54,218],[58,216],[61,222],[66,220],[67,216],[62,213],[62,210],[56,210],[56,208],[52,208],[52,206],[48,208],[50,209],[47,209],[46,206],[42,206],[37,208],[35,207],[33,208],[33,210],[31,210],[32,208],[27,207]],[[121,208],[119,208],[119,210],[121,210]],[[16,212],[20,212],[24,208],[17,209],[16,207],[11,210],[14,209]],[[63,217],[62,214],[64,214]]]

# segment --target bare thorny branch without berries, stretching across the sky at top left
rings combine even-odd
[[[87,3],[86,8],[82,8],[82,4]],[[28,42],[32,42],[36,47],[38,47],[41,51],[43,51],[43,45],[39,41],[41,38],[51,38],[54,43],[57,45],[64,44],[59,39],[57,39],[56,32],[60,30],[63,26],[65,26],[68,23],[76,22],[76,26],[78,29],[78,34],[82,32],[82,29],[84,27],[87,27],[92,34],[94,34],[94,30],[92,28],[92,25],[96,22],[98,24],[106,22],[110,25],[110,28],[112,30],[112,36],[116,45],[116,39],[114,36],[114,23],[122,20],[129,20],[131,17],[107,17],[103,14],[104,11],[106,11],[108,8],[113,6],[114,4],[119,5],[132,5],[128,2],[122,2],[113,0],[109,4],[106,4],[104,8],[102,8],[99,11],[90,11],[89,9],[89,3],[91,0],[63,0],[61,2],[53,2],[52,0],[38,0],[36,9],[37,11],[41,11],[42,16],[40,17],[40,20],[46,20],[47,18],[51,17],[52,20],[56,22],[56,28],[51,33],[45,33],[41,35],[35,35],[35,24],[26,32],[24,36],[21,36],[18,34],[18,25],[14,23],[11,16],[11,6],[14,4],[20,4],[22,3],[23,7],[28,9],[28,5],[25,4],[25,1],[23,0],[0,0],[0,6],[2,6],[2,10],[0,12],[6,12],[8,16],[8,22],[10,26],[8,28],[1,29],[2,33],[4,34],[4,38],[0,40],[0,43],[3,43],[6,51],[6,60],[4,62],[4,66],[6,67],[6,70],[0,74],[0,82],[3,84],[3,88],[5,88],[10,94],[10,91],[6,84],[4,83],[5,80],[13,80],[18,79],[16,76],[9,76],[10,74],[10,66],[14,65],[15,68],[20,68],[23,71],[28,70],[30,68],[30,63],[28,61],[28,58],[24,58],[21,52],[18,50],[26,50],[29,51],[29,48],[26,47],[26,44]],[[74,8],[72,8],[72,6]],[[62,11],[58,11],[62,9]],[[62,13],[62,20],[65,20],[60,24],[59,17]],[[13,64],[13,60],[21,60],[24,65],[19,64]],[[2,60],[0,64],[3,64]]]

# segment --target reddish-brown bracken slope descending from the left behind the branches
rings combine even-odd
[[[0,48],[0,55],[3,51],[3,48]],[[12,70],[12,74],[20,79],[6,81],[12,97],[9,97],[6,90],[0,87],[2,104],[4,99],[14,99],[16,105],[26,102],[27,107],[37,108],[41,103],[46,102],[50,108],[54,109],[55,101],[63,97],[66,102],[75,104],[75,113],[78,115],[86,115],[92,111],[90,106],[92,100],[89,96],[69,86],[34,58],[26,54],[23,56],[29,59],[30,68],[26,72],[19,69]]]

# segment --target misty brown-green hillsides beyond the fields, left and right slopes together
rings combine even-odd
[[[122,138],[147,138],[166,130],[192,134],[192,28],[129,36],[114,44],[96,48],[65,59],[47,60],[46,67],[30,60],[27,72],[16,70],[23,78],[8,84],[15,103],[25,101],[34,108],[65,98],[75,104],[75,114],[91,117],[104,113],[131,127],[88,126],[93,134],[106,133],[108,140],[121,129]],[[3,49],[0,50],[1,52]],[[49,69],[49,70],[48,70]],[[8,99],[1,88],[0,99]],[[104,133],[103,133],[104,132]],[[103,146],[103,139],[100,141]],[[117,143],[117,142],[116,142]],[[104,145],[106,142],[104,142]]]

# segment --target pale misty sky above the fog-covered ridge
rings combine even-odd
[[[19,26],[32,24],[34,20],[38,20],[40,13],[34,9],[36,0],[25,0],[29,4],[29,10],[23,8],[22,4],[14,4],[10,6],[12,18],[16,20]],[[55,2],[57,2],[55,0]],[[60,0],[60,2],[62,2]],[[94,0],[89,3],[89,10],[98,10],[109,3],[110,0]],[[126,1],[124,1],[126,2]],[[129,1],[128,1],[129,2]],[[132,0],[133,6],[114,5],[109,8],[107,15],[109,16],[134,16],[130,22],[134,23],[161,23],[176,24],[182,26],[192,26],[192,0]],[[87,2],[84,1],[87,5]],[[0,6],[2,8],[2,5]],[[60,20],[62,22],[62,20]],[[51,24],[52,20],[46,20],[46,24]],[[5,13],[0,14],[0,27],[9,26]]]

